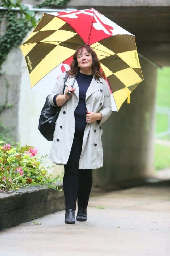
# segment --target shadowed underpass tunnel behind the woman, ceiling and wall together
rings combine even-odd
[[[154,174],[157,70],[170,66],[170,7],[94,8],[135,35],[144,77],[130,104],[102,125],[104,166],[93,171],[94,187],[135,186]]]

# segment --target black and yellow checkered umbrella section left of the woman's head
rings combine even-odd
[[[31,87],[72,56],[80,45],[84,45],[84,41],[70,25],[58,17],[44,14],[20,46],[29,70]]]

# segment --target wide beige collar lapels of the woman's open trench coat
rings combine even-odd
[[[71,86],[73,84],[73,81],[74,81],[74,77],[70,77],[67,79],[67,82],[65,83],[66,86]],[[104,79],[99,77],[99,79],[95,79],[95,77],[93,77],[88,89],[87,89],[87,92],[86,92],[86,100],[87,98],[93,94],[95,91],[98,91],[101,89],[101,83],[103,84],[103,81]],[[79,87],[78,87],[78,83],[77,83],[77,80],[75,79],[75,82],[74,82],[74,85],[73,87],[76,89],[74,91],[77,99],[79,100]]]

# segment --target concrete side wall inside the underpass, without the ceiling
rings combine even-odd
[[[147,177],[154,170],[156,67],[140,58],[144,81],[118,113],[102,125],[104,167],[93,171],[94,186],[113,186]]]

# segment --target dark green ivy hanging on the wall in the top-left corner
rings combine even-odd
[[[63,7],[67,2],[69,0],[46,0],[36,7]],[[0,70],[10,50],[20,45],[28,31],[37,24],[35,11],[30,11],[20,0],[1,0],[1,6],[6,7],[7,11],[0,11],[0,26],[2,19],[6,21],[5,34],[0,38]],[[12,7],[20,8],[19,15],[18,12],[11,11]]]

